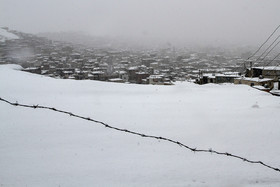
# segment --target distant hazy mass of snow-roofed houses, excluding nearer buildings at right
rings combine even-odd
[[[8,28],[7,28],[8,29]],[[10,31],[20,39],[1,43],[1,63],[17,63],[24,71],[55,78],[99,80],[136,84],[171,85],[195,80],[203,71],[231,71],[240,59],[223,55],[175,50],[94,49],[51,41],[31,34]]]

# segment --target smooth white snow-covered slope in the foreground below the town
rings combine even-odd
[[[280,167],[280,98],[245,85],[60,80],[0,66],[0,97]],[[258,164],[0,102],[0,186],[280,186]]]

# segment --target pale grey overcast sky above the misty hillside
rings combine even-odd
[[[0,26],[258,45],[280,24],[279,10],[280,0],[0,0]]]

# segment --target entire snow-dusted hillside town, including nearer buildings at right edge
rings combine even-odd
[[[100,49],[9,28],[2,30],[18,39],[0,42],[0,64],[20,64],[24,71],[54,78],[157,85],[172,85],[176,81],[235,83],[266,91],[273,89],[275,82],[279,85],[280,68],[272,66],[279,64],[279,59],[265,60],[264,64],[270,66],[260,67],[256,60],[246,62],[241,55],[221,51],[210,54],[172,47],[137,51]]]

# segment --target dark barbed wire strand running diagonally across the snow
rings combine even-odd
[[[13,105],[13,106],[19,106],[19,107],[25,107],[25,108],[33,108],[33,109],[52,110],[52,111],[55,111],[55,112],[59,112],[59,113],[70,115],[70,116],[75,117],[75,118],[79,118],[79,119],[87,120],[87,121],[90,121],[90,122],[98,123],[98,124],[103,125],[106,128],[113,129],[113,130],[116,130],[116,131],[121,131],[121,132],[125,132],[125,133],[128,133],[128,134],[133,134],[133,135],[140,136],[140,137],[143,137],[143,138],[152,138],[152,139],[156,139],[156,140],[167,141],[167,142],[179,145],[180,147],[186,148],[186,149],[188,149],[188,150],[190,150],[192,152],[205,152],[205,153],[211,153],[211,154],[228,156],[228,157],[240,159],[240,160],[242,160],[244,162],[248,162],[248,163],[251,163],[251,164],[260,164],[260,165],[262,165],[262,166],[264,166],[266,168],[269,168],[269,169],[272,169],[274,171],[280,172],[279,168],[271,166],[271,165],[268,165],[268,164],[265,164],[262,161],[249,160],[249,159],[241,157],[239,155],[231,154],[231,153],[228,153],[228,152],[219,152],[219,151],[216,151],[216,150],[213,150],[213,149],[193,148],[193,147],[190,147],[190,146],[188,146],[186,144],[183,144],[183,143],[181,143],[179,141],[176,141],[176,140],[173,140],[173,139],[170,139],[170,138],[166,138],[166,137],[162,137],[162,136],[148,135],[148,134],[143,134],[143,133],[132,131],[132,130],[128,130],[128,129],[114,127],[114,126],[111,126],[111,125],[109,125],[107,123],[104,123],[102,121],[95,120],[95,119],[92,119],[90,117],[80,116],[80,115],[74,114],[72,112],[68,112],[68,111],[64,111],[64,110],[59,110],[59,109],[56,109],[54,107],[47,107],[47,106],[40,106],[40,105],[26,105],[26,104],[20,104],[18,102],[14,102],[13,103],[13,102],[8,101],[6,99],[3,99],[1,97],[0,97],[0,101],[8,103],[8,104]]]

